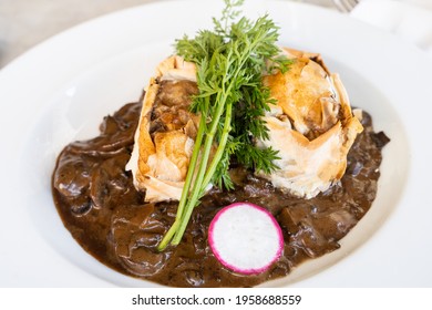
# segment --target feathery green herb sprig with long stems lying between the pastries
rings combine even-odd
[[[200,121],[176,218],[160,250],[169,242],[179,244],[209,184],[234,188],[228,174],[232,158],[264,173],[277,169],[277,151],[258,148],[254,140],[268,138],[261,116],[274,102],[261,82],[266,63],[286,71],[289,61],[280,56],[278,27],[268,16],[235,22],[240,14],[237,7],[244,1],[224,1],[223,17],[213,19],[214,31],[203,30],[194,39],[185,35],[176,41],[176,53],[197,65],[199,94],[191,111],[200,115]]]

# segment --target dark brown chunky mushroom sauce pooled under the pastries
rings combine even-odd
[[[364,131],[348,155],[340,184],[306,200],[275,189],[241,167],[233,167],[236,189],[213,189],[195,208],[186,234],[175,248],[155,248],[173,223],[176,202],[145,204],[132,175],[131,156],[140,103],[106,116],[101,135],[68,145],[60,154],[52,192],[64,226],[76,241],[106,266],[125,275],[173,287],[251,287],[285,277],[307,259],[331,252],[369,210],[377,194],[381,148],[389,142],[376,134],[363,113]],[[285,238],[281,258],[260,275],[243,276],[224,268],[207,244],[217,210],[234,202],[250,202],[277,218]]]

